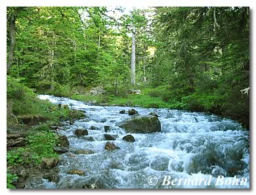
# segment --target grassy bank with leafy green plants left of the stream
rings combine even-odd
[[[7,147],[7,188],[15,188],[20,183],[21,169],[40,169],[43,157],[58,157],[53,151],[54,145],[58,145],[58,137],[51,126],[60,120],[82,116],[79,111],[38,99],[33,90],[18,80],[8,78],[7,135],[16,133],[25,138],[22,145]]]

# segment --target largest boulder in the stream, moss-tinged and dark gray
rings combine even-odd
[[[154,115],[139,115],[117,123],[117,126],[129,133],[161,132],[161,123]]]

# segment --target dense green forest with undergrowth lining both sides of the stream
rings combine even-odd
[[[214,114],[249,130],[249,27],[249,7],[7,7],[7,132],[29,132],[32,116],[52,120],[41,129],[81,117],[39,94]],[[33,164],[55,155],[28,137],[7,152],[10,169],[28,164],[24,151]],[[14,172],[7,185],[22,187]]]

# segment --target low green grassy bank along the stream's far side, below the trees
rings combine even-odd
[[[232,118],[242,123],[249,129],[249,96],[242,95],[239,90],[232,94],[223,92],[200,92],[186,94],[179,89],[171,89],[170,86],[152,88],[150,86],[140,88],[141,94],[113,94],[86,95],[70,94],[68,97],[80,101],[91,102],[96,105],[120,105],[145,108],[181,109],[221,115]],[[83,90],[85,92],[86,90]]]

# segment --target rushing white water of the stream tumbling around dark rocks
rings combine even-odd
[[[60,155],[60,181],[43,180],[40,187],[82,188],[97,183],[102,188],[249,188],[249,131],[238,122],[205,113],[137,107],[140,115],[152,111],[158,114],[161,132],[131,133],[135,142],[129,143],[122,140],[127,133],[116,123],[131,117],[119,114],[131,107],[87,105],[47,95],[39,98],[85,111],[85,118],[60,131],[70,141],[69,152]],[[95,130],[90,130],[91,126],[95,126]],[[112,142],[120,149],[104,149],[104,126],[110,126],[108,133],[117,136]],[[74,130],[77,128],[87,129],[89,135],[76,137]],[[95,141],[87,141],[87,137]],[[95,154],[70,155],[77,149],[91,149]],[[85,171],[85,176],[67,174],[74,168]],[[224,178],[218,180],[219,175]],[[166,185],[163,185],[167,177],[171,177],[170,181],[181,179],[181,182],[167,185],[165,180]],[[236,178],[247,182],[234,185],[231,181]],[[191,182],[184,183],[185,179]]]

